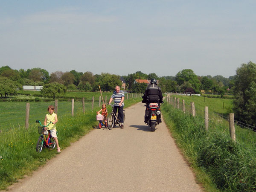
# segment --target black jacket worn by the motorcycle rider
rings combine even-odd
[[[143,103],[147,103],[147,102],[162,103],[163,94],[161,92],[161,88],[158,87],[156,84],[148,85],[148,87],[145,90],[142,102]]]

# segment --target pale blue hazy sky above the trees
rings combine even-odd
[[[236,74],[256,63],[255,0],[0,0],[0,67]]]

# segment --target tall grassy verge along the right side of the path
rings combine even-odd
[[[206,191],[256,190],[255,143],[242,139],[255,137],[255,133],[237,128],[243,137],[235,143],[228,127],[222,124],[209,122],[206,132],[200,116],[192,117],[166,103],[161,110],[172,136]]]

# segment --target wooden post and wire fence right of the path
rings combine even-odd
[[[184,100],[184,99],[183,99]],[[166,102],[170,105],[172,105],[174,108],[183,111],[184,113],[192,114],[193,110],[195,110],[195,116],[201,117],[205,120],[205,108],[198,107],[194,105],[194,109],[192,108],[192,103],[187,103],[185,101],[180,101],[179,98],[176,98],[175,96],[171,96],[171,94],[167,94]],[[207,110],[208,111],[208,110]],[[233,113],[230,113],[233,114]],[[193,115],[193,114],[192,114]],[[214,111],[208,111],[208,122],[211,127],[209,128],[215,128],[215,126],[218,126],[219,128],[222,128],[223,132],[229,132],[230,133],[230,116],[225,116],[221,113],[216,113]],[[256,128],[248,125],[246,123],[233,120],[234,124],[234,134],[233,140],[243,140],[245,142],[249,142],[256,146]],[[236,133],[235,133],[236,130]],[[231,133],[230,133],[230,137]]]

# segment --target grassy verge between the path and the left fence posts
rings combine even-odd
[[[140,101],[141,98],[125,100],[125,108]],[[95,111],[97,110],[99,107],[95,108]],[[45,114],[46,112],[44,116]],[[37,119],[40,118],[42,116]],[[62,150],[70,143],[79,140],[96,125],[96,113],[92,111],[85,113],[77,111],[73,117],[71,113],[58,116],[56,126]],[[6,189],[17,179],[29,175],[47,160],[56,156],[56,150],[44,149],[41,153],[35,151],[39,137],[37,126],[38,124],[33,123],[28,129],[23,126],[12,127],[0,133],[0,189]]]

